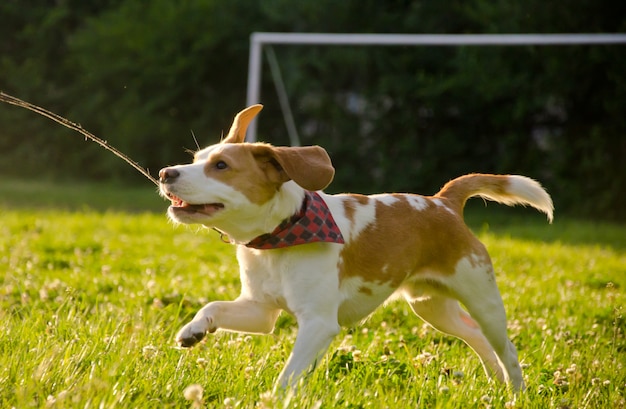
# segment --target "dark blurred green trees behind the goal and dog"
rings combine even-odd
[[[3,0],[0,90],[108,140],[154,175],[245,105],[254,31],[617,33],[608,0]],[[468,172],[540,180],[559,214],[626,220],[626,46],[273,46],[329,191],[433,194]],[[264,58],[259,140],[288,144]],[[145,184],[82,136],[0,104],[5,177]]]

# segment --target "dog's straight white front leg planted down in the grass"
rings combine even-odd
[[[285,369],[278,377],[276,386],[280,388],[294,385],[307,369],[315,367],[340,330],[336,319],[322,317],[298,319],[298,326],[293,351]]]

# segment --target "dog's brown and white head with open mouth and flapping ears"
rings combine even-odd
[[[264,208],[276,208],[272,202],[294,182],[307,190],[330,184],[335,170],[319,146],[244,142],[248,124],[261,109],[253,105],[237,114],[226,138],[198,151],[193,163],[161,169],[160,191],[172,202],[170,218],[220,228],[227,220],[266,217]]]

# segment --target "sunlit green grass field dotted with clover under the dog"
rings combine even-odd
[[[462,342],[403,303],[344,329],[296,392],[268,391],[295,339],[173,337],[238,295],[234,248],[175,227],[154,189],[0,182],[0,407],[621,408],[626,226],[480,201],[467,219],[495,264],[528,389],[487,381]]]

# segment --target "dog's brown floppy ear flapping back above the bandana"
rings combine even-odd
[[[257,156],[272,160],[280,175],[280,182],[293,180],[306,190],[322,190],[330,185],[335,168],[326,150],[320,146],[256,147]]]

